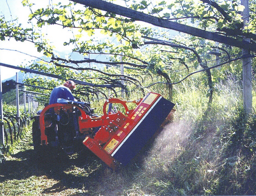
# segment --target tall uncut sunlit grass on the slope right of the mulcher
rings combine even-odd
[[[162,86],[155,88],[163,95]],[[152,145],[120,172],[103,173],[96,184],[104,195],[216,195],[245,194],[241,172],[252,169],[244,155],[228,155],[232,148],[234,121],[242,108],[239,82],[216,84],[208,110],[207,87],[190,78],[174,86],[174,122],[162,127]],[[254,96],[255,103],[255,96]],[[255,114],[255,110],[254,110]],[[250,136],[252,137],[252,136]],[[250,139],[248,145],[255,145]],[[237,146],[236,146],[237,147]],[[254,167],[255,169],[255,167]],[[240,176],[237,173],[240,172]],[[255,171],[254,171],[255,172]],[[230,182],[232,181],[232,182]],[[110,184],[102,182],[112,182]],[[254,181],[255,182],[255,181]],[[228,186],[226,185],[228,184]],[[116,188],[118,187],[118,188]],[[255,192],[254,192],[255,194]]]

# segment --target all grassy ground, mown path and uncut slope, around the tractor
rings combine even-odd
[[[256,117],[239,109],[239,84],[216,85],[210,110],[204,88],[189,79],[175,86],[174,122],[119,171],[92,153],[40,169],[26,135],[1,165],[0,195],[255,195]]]

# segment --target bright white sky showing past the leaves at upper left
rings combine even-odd
[[[65,0],[64,0],[65,1]],[[30,14],[30,10],[27,7],[22,6],[22,0],[0,0],[0,15],[4,16],[6,21],[9,20],[15,20],[17,19],[17,24],[22,24],[25,27],[31,27],[31,24],[28,24],[28,15]],[[51,0],[52,2],[52,0]],[[49,1],[43,0],[43,1],[36,1],[36,4],[38,6],[41,6],[43,4],[47,4]],[[56,49],[61,50],[61,48],[58,48],[58,43],[63,43],[65,36],[60,36],[60,33],[56,32],[62,32],[61,35],[67,35],[68,32],[63,32],[63,29],[60,27],[45,27],[44,33],[47,33],[50,35],[51,40],[54,40],[56,42]],[[63,34],[64,33],[64,34]],[[20,51],[20,52],[17,52]],[[66,52],[66,51],[64,51]],[[5,63],[8,65],[14,65],[14,66],[20,66],[20,65],[26,65],[27,63],[35,60],[36,58],[30,57],[29,55],[25,55],[23,53],[30,54],[35,57],[42,57],[42,53],[38,53],[37,49],[34,47],[34,44],[29,42],[18,42],[13,39],[0,41],[0,62]],[[16,69],[10,69],[7,67],[0,67],[0,76],[1,80],[6,80],[14,75],[16,75],[16,72],[19,72],[19,70]]]

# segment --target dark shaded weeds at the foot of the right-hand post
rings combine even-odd
[[[222,155],[226,159],[220,171],[221,180],[217,194],[220,192],[246,195],[256,193],[254,186],[256,182],[255,123],[255,118],[245,118],[242,111],[238,112],[237,118],[234,118],[226,138],[228,145]]]

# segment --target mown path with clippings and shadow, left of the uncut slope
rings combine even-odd
[[[91,195],[104,165],[85,151],[72,157],[49,155],[47,164],[36,160],[32,133],[16,146],[13,154],[0,165],[0,196]]]

